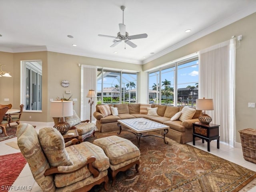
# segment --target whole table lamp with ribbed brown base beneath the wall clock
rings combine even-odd
[[[51,117],[59,117],[59,122],[53,127],[56,128],[62,135],[69,129],[70,125],[65,122],[65,117],[73,115],[73,102],[72,101],[52,101],[51,102]]]

